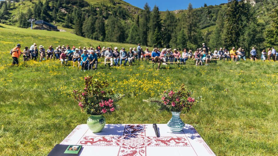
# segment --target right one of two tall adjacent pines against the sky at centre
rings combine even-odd
[[[150,16],[149,43],[155,47],[161,47],[161,18],[158,6],[153,7]]]

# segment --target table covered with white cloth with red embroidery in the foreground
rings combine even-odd
[[[106,124],[92,133],[86,124],[78,125],[60,144],[83,145],[80,155],[215,155],[195,128],[185,124],[181,133],[171,133],[166,124]]]

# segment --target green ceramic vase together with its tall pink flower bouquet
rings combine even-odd
[[[83,91],[73,91],[73,97],[78,101],[81,112],[90,114],[87,125],[93,133],[100,132],[105,126],[103,114],[111,113],[120,106],[117,102],[124,96],[114,93],[113,89],[105,91],[108,87],[107,81],[92,80],[92,76],[85,77],[85,88]]]

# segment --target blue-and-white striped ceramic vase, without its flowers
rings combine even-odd
[[[182,119],[180,118],[180,112],[172,112],[172,118],[167,123],[167,126],[173,133],[180,133],[182,132],[185,124],[183,123]]]

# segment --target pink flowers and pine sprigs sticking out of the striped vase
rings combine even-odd
[[[202,96],[196,100],[191,97],[192,94],[193,91],[187,90],[187,87],[182,84],[178,90],[165,90],[163,94],[160,94],[160,98],[149,98],[143,101],[149,103],[150,106],[158,106],[158,111],[181,112],[185,110],[189,112],[192,106],[196,105],[199,101],[203,101]]]

